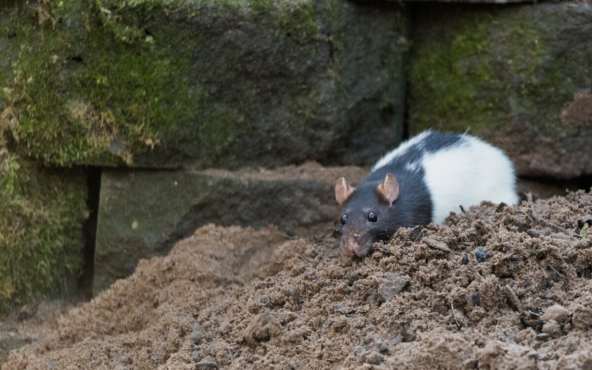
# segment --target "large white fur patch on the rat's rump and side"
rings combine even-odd
[[[426,154],[422,160],[425,181],[432,195],[433,223],[442,223],[459,205],[468,208],[481,201],[516,204],[514,167],[506,154],[473,136],[465,143]]]

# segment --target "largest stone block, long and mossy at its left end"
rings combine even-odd
[[[341,0],[5,8],[0,128],[59,166],[369,163],[402,136],[407,17]],[[14,52],[16,51],[16,52]]]

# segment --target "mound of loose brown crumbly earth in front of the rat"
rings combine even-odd
[[[584,191],[485,203],[361,260],[205,226],[2,369],[592,368],[591,224]]]

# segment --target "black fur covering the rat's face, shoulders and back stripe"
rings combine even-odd
[[[463,141],[462,135],[433,131],[387,165],[370,172],[343,204],[342,214],[348,216],[348,221],[341,228],[342,240],[348,236],[355,238],[362,246],[360,255],[365,256],[374,242],[390,239],[400,227],[429,224],[433,203],[424,181],[424,170],[419,165],[411,170],[407,165],[419,162],[426,153],[435,153]],[[392,173],[399,184],[398,198],[391,206],[377,190],[387,173]],[[377,222],[368,221],[369,212],[378,214]]]

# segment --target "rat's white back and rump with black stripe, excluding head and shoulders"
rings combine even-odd
[[[510,159],[471,135],[424,131],[378,160],[369,176],[380,178],[401,170],[422,177],[432,201],[433,223],[458,212],[459,205],[519,200]]]

